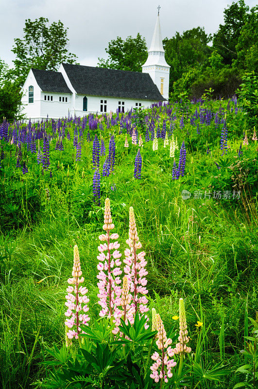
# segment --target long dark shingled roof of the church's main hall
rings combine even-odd
[[[78,94],[163,101],[148,73],[62,64]]]

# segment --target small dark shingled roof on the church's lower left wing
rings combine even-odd
[[[58,71],[32,69],[36,82],[43,92],[72,93],[63,74]]]

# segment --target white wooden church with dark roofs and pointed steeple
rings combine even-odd
[[[22,113],[33,121],[88,113],[126,112],[169,98],[159,14],[142,72],[62,63],[58,71],[31,69],[21,88]]]

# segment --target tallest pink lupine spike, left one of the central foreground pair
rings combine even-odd
[[[118,308],[120,306],[121,301],[121,280],[120,274],[122,271],[120,270],[120,257],[122,254],[119,252],[120,244],[116,240],[115,242],[110,242],[110,239],[115,240],[119,238],[117,233],[110,234],[110,231],[115,228],[112,218],[111,218],[111,210],[110,210],[110,200],[106,198],[105,200],[105,209],[104,209],[104,225],[103,230],[106,231],[105,234],[99,236],[100,241],[107,243],[100,244],[98,247],[100,251],[100,255],[98,255],[98,260],[101,261],[97,268],[99,270],[99,274],[97,278],[99,281],[99,294],[98,298],[100,299],[98,302],[102,307],[100,311],[100,316],[106,316],[108,318],[113,317],[113,322],[116,323],[116,329],[113,330],[114,334],[117,334],[119,331],[118,326],[120,325],[120,318],[122,316],[122,312]],[[114,250],[111,253],[111,250]],[[105,254],[104,251],[107,251]]]

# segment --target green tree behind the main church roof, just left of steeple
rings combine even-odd
[[[125,40],[118,36],[108,43],[105,51],[108,58],[99,58],[100,68],[142,71],[141,66],[148,57],[146,40],[139,33],[136,38],[127,36]]]

